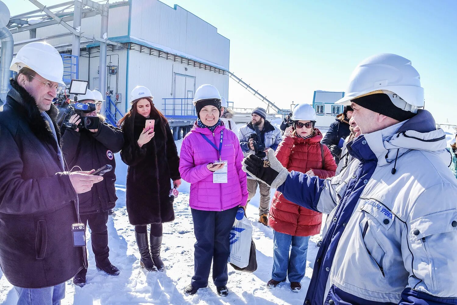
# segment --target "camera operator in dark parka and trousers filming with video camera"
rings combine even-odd
[[[79,96],[79,102],[93,103],[95,96],[92,91],[87,90],[86,94]],[[92,110],[90,112],[90,110]],[[85,112],[76,111],[69,123],[78,125],[81,117],[97,116],[94,104],[89,104]],[[90,240],[95,255],[97,269],[109,275],[118,275],[119,269],[113,266],[108,259],[108,210],[114,208],[116,203],[116,189],[114,182],[116,176],[114,170],[116,162],[114,154],[122,149],[124,137],[121,129],[105,123],[105,118],[98,114],[99,124],[96,129],[65,128],[63,135],[63,152],[69,167],[80,166],[82,170],[98,169],[106,164],[112,166],[112,170],[104,174],[102,183],[92,188],[90,192],[81,194],[79,207],[81,222],[87,224],[91,230]],[[73,278],[73,283],[82,287],[86,282],[87,269],[83,268]]]

